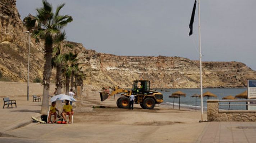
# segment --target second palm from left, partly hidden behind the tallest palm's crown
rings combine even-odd
[[[57,94],[61,94],[62,88],[62,65],[64,62],[64,54],[62,53],[62,46],[61,43],[65,40],[65,31],[60,33],[56,40],[55,40],[55,47],[53,49],[53,58],[52,58],[52,66],[56,67],[56,87],[57,87]],[[64,44],[63,48],[73,48],[72,44]]]

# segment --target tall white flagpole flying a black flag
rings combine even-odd
[[[198,31],[199,31],[199,52],[200,52],[200,87],[201,87],[201,122],[203,122],[203,84],[202,84],[202,54],[201,54],[201,28],[200,28],[200,0],[198,0]]]

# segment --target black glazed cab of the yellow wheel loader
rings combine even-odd
[[[132,85],[132,94],[149,94],[150,81],[149,80],[134,80]]]

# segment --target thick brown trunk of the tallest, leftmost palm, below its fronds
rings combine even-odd
[[[41,114],[47,114],[49,110],[49,85],[51,78],[51,58],[52,58],[52,42],[45,41],[45,65],[44,65],[44,76],[43,76],[43,99]]]

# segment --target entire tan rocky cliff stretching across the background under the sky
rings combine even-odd
[[[25,33],[15,0],[0,1],[0,71],[4,80],[27,79],[28,35]],[[69,42],[69,41],[67,41]],[[136,79],[151,80],[151,87],[198,88],[199,63],[186,58],[167,56],[116,56],[75,46],[80,66],[87,74],[84,84],[131,87]],[[42,78],[43,43],[31,41],[30,80]],[[66,49],[65,51],[68,51]],[[239,62],[203,62],[204,87],[244,87],[246,79],[255,79],[256,71]],[[54,82],[54,72],[52,82]],[[3,78],[2,78],[3,80]]]

